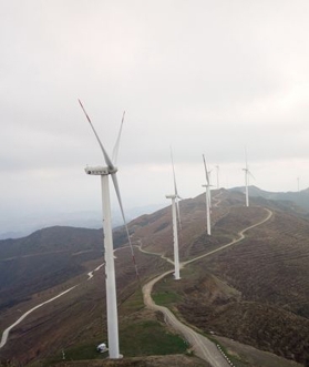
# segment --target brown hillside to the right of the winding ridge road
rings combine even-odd
[[[181,283],[161,285],[157,292],[178,294],[173,307],[204,332],[303,363],[309,346],[309,222],[271,201],[251,202],[249,208],[231,206],[214,226],[214,236],[258,221],[260,203],[272,210],[272,217],[237,245],[192,264]]]

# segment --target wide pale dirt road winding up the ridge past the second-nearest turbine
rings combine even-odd
[[[254,225],[250,225],[248,227],[246,227],[245,230],[238,232],[238,238],[233,239],[230,243],[220,246],[214,251],[210,251],[204,255],[197,256],[193,259],[189,259],[187,262],[184,262],[181,264],[181,267],[184,267],[187,264],[190,264],[193,262],[196,262],[203,257],[206,256],[210,256],[212,254],[218,252],[218,251],[223,251],[224,248],[227,248],[229,246],[235,245],[236,243],[239,243],[240,241],[243,241],[245,238],[245,233],[254,227],[257,227],[259,225],[261,225],[262,223],[269,221],[269,218],[272,216],[272,212],[269,211],[268,208],[265,208],[265,211],[268,213],[267,217]],[[148,253],[152,255],[156,255],[156,256],[161,256],[162,258],[165,258],[163,255],[161,254],[156,254],[156,253],[151,253],[147,252],[145,249],[142,249],[142,245],[137,246],[137,248],[140,248],[140,251],[144,252],[144,253]],[[167,259],[169,263],[173,261]],[[146,307],[148,307],[150,309],[153,310],[159,310],[163,315],[164,315],[164,319],[167,324],[169,324],[175,330],[177,330],[178,333],[181,333],[185,339],[192,345],[196,356],[198,356],[199,358],[206,360],[207,363],[209,363],[213,367],[229,367],[230,365],[228,364],[228,361],[224,358],[224,356],[222,355],[222,353],[217,349],[217,347],[215,346],[214,343],[212,343],[209,339],[207,339],[205,336],[198,334],[197,332],[193,330],[192,328],[189,328],[187,325],[181,323],[175,315],[166,307],[164,306],[158,306],[154,303],[153,298],[152,298],[152,289],[155,283],[157,283],[158,281],[161,281],[162,278],[164,278],[166,275],[173,273],[173,271],[168,271],[165,272],[164,274],[161,274],[159,276],[155,277],[154,279],[152,279],[151,282],[148,282],[146,285],[144,285],[143,287],[143,296],[144,296],[144,304],[146,305]]]

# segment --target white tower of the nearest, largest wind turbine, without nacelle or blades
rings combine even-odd
[[[111,202],[109,174],[101,175],[102,187],[102,210],[103,210],[103,231],[105,249],[105,284],[106,284],[106,312],[107,312],[107,335],[110,358],[117,359],[120,355],[119,346],[119,317],[117,317],[117,297],[116,279],[113,248],[113,233],[111,221]]]

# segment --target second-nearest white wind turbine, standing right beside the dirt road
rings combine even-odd
[[[171,149],[171,159],[172,159],[173,176],[174,176],[174,194],[166,195],[165,197],[166,198],[172,198],[173,238],[174,238],[174,266],[175,266],[174,277],[175,277],[175,281],[179,281],[181,279],[181,274],[179,274],[179,249],[178,249],[177,217],[178,217],[178,221],[179,221],[179,227],[182,227],[181,215],[179,215],[179,203],[178,203],[178,198],[181,198],[181,196],[178,195],[178,192],[177,192],[172,149]]]

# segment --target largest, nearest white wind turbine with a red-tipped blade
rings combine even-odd
[[[121,207],[121,213],[124,220],[125,228],[126,228],[126,234],[128,236],[128,242],[131,245],[130,241],[130,235],[128,235],[128,230],[126,226],[126,221],[124,216],[124,211],[123,211],[123,205],[122,205],[122,200],[121,200],[121,194],[120,194],[120,188],[119,188],[119,183],[117,183],[117,167],[114,166],[113,162],[111,161],[110,156],[107,155],[104,146],[101,143],[101,140],[94,130],[92,122],[85,112],[85,109],[82,104],[82,102],[79,100],[80,105],[91,125],[91,129],[94,132],[94,135],[100,144],[101,151],[103,153],[106,166],[95,166],[95,167],[85,167],[85,172],[91,175],[100,175],[101,176],[101,188],[102,188],[102,210],[103,210],[103,234],[104,234],[104,257],[105,257],[105,284],[106,284],[106,313],[107,313],[107,337],[109,337],[109,353],[110,353],[110,358],[117,359],[122,358],[122,355],[120,354],[120,347],[119,347],[119,318],[117,318],[117,299],[116,299],[116,283],[115,283],[115,266],[114,266],[114,248],[113,248],[113,233],[112,233],[112,221],[111,221],[111,202],[110,202],[110,186],[109,186],[109,175],[112,176],[112,181],[115,187],[116,196],[119,200],[119,204]],[[122,118],[122,124],[124,120],[124,113]],[[113,156],[114,161],[117,155],[117,150],[119,150],[119,144],[120,144],[120,136],[121,136],[121,131],[122,131],[122,124],[120,129],[120,133],[116,140],[116,144],[114,147]],[[132,251],[132,246],[131,246]],[[134,254],[133,255],[133,261],[135,264],[134,259]],[[137,274],[137,268],[135,264],[135,271]]]

